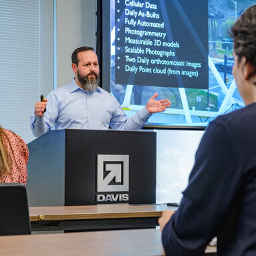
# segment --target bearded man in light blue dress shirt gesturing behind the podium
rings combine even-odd
[[[80,47],[72,53],[74,80],[53,90],[44,102],[35,103],[31,130],[41,136],[53,129],[139,130],[155,112],[162,112],[170,101],[148,100],[140,112],[127,118],[118,100],[98,86],[98,57],[92,47]],[[47,111],[44,112],[47,105]]]

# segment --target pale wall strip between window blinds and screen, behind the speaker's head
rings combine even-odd
[[[83,45],[96,49],[96,10],[96,0],[57,0],[57,87],[74,78],[74,49]]]

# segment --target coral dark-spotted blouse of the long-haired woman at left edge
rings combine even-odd
[[[0,177],[0,182],[9,183],[9,182],[19,182],[26,184],[27,182],[27,161],[29,160],[29,150],[24,140],[17,134],[9,130],[5,130],[5,134],[7,134],[11,146],[3,135],[3,142],[11,155],[11,173],[5,173]],[[11,147],[13,148],[13,153],[11,151]],[[17,164],[16,164],[16,162]]]

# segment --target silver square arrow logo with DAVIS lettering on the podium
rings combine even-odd
[[[120,193],[113,193],[113,192]],[[97,155],[97,195],[98,202],[128,201],[129,156],[115,154]],[[106,194],[112,192],[111,194]]]

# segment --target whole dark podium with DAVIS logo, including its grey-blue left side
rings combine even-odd
[[[30,207],[156,203],[156,133],[51,130],[29,144]]]

